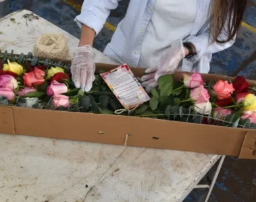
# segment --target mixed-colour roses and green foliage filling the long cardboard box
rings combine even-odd
[[[75,88],[70,64],[40,61],[28,55],[0,53],[0,104],[114,114],[122,105],[99,73],[90,92]],[[256,128],[255,87],[244,77],[233,81],[204,82],[199,73],[184,74],[180,81],[172,75],[158,79],[158,87],[149,92],[151,100],[124,115]]]

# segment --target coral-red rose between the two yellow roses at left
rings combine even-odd
[[[45,82],[45,71],[38,69],[34,67],[33,71],[30,71],[30,73],[25,73],[23,76],[24,84],[31,88],[35,85],[41,85],[43,82]]]

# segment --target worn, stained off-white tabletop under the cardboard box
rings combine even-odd
[[[30,11],[0,20],[0,48],[28,53],[43,33],[78,39]],[[11,22],[14,18],[15,22]],[[95,61],[115,63],[95,50]],[[26,114],[24,114],[26,119]],[[86,125],[86,123],[84,123]],[[182,201],[220,156],[0,135],[0,202]]]

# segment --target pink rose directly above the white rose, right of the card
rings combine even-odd
[[[195,88],[190,91],[190,98],[198,104],[203,102],[209,102],[210,96],[207,90],[203,88],[203,85],[201,85],[198,88]]]

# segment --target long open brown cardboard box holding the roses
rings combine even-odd
[[[97,70],[109,71],[116,67],[97,64]],[[145,71],[141,68],[131,69],[138,77]],[[174,79],[181,78],[182,73],[175,73]],[[218,75],[203,75],[205,80],[218,78],[228,79]],[[256,81],[249,83],[256,84]],[[0,106],[0,133],[256,159],[256,130],[131,116]]]

